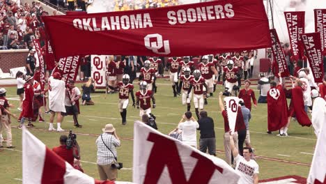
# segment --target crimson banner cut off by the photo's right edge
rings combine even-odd
[[[323,55],[326,55],[326,9],[315,9],[315,31],[320,33]]]

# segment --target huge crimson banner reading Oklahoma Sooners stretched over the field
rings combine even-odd
[[[56,58],[79,54],[196,56],[270,47],[261,0],[209,1],[42,19]]]

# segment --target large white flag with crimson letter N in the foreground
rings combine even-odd
[[[224,160],[202,153],[134,122],[134,183],[237,183],[238,174]]]

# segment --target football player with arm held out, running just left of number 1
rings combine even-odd
[[[134,85],[130,84],[129,75],[123,75],[123,81],[118,82],[118,86],[116,88],[109,86],[110,89],[118,89],[119,91],[119,103],[118,108],[122,118],[122,124],[125,125],[127,123],[127,107],[129,104],[129,94],[132,96],[132,107],[135,107],[134,103]]]

